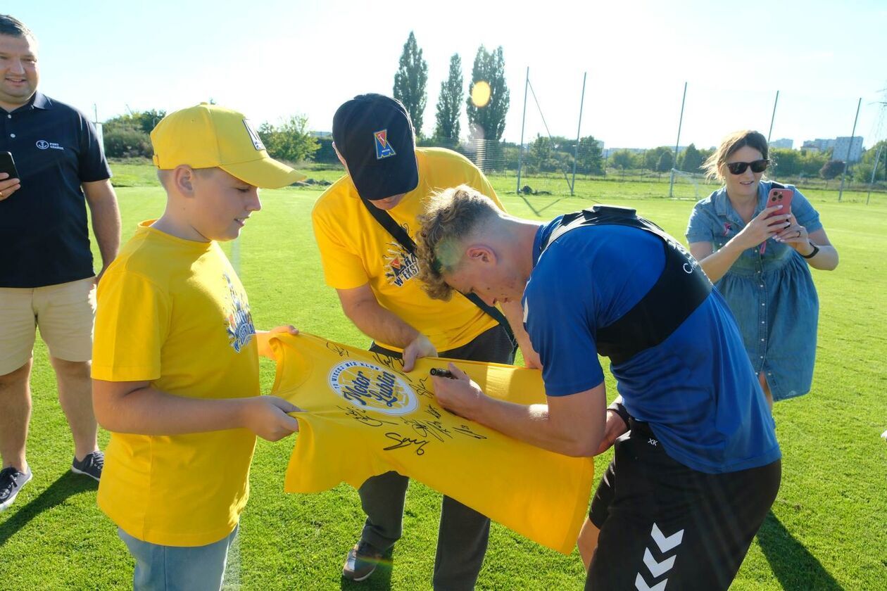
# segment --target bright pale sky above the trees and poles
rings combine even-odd
[[[329,131],[342,102],[390,95],[410,31],[428,62],[422,131],[450,57],[467,82],[478,48],[502,46],[511,106],[504,139],[522,132],[606,147],[718,144],[736,129],[772,139],[887,136],[887,2],[567,2],[478,0],[5,0],[39,41],[40,89],[98,121],[172,111],[210,98],[255,122],[308,117]],[[462,136],[467,136],[463,113]]]

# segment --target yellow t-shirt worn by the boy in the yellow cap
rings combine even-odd
[[[92,377],[193,398],[259,394],[247,294],[215,242],[139,224],[98,284]],[[131,536],[203,546],[232,533],[249,494],[247,429],[111,433],[98,506]]]

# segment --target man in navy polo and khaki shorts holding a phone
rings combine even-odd
[[[38,325],[74,436],[71,470],[98,480],[104,464],[91,400],[96,276],[86,205],[103,268],[117,255],[120,214],[95,128],[37,92],[38,81],[34,34],[0,15],[0,152],[12,152],[20,175],[0,174],[0,510],[31,479],[25,440]]]

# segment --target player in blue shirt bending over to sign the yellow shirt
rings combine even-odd
[[[421,224],[428,294],[522,298],[546,383],[546,405],[516,405],[450,365],[455,379],[433,378],[443,407],[566,455],[615,441],[586,522],[585,588],[729,587],[779,490],[781,452],[733,315],[695,259],[633,210],[543,224],[467,187],[431,198]],[[621,395],[609,414],[598,354]]]

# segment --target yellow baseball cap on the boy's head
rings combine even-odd
[[[247,116],[200,103],[169,113],[151,132],[154,166],[170,170],[222,168],[244,183],[277,189],[305,180],[302,173],[271,158]]]

